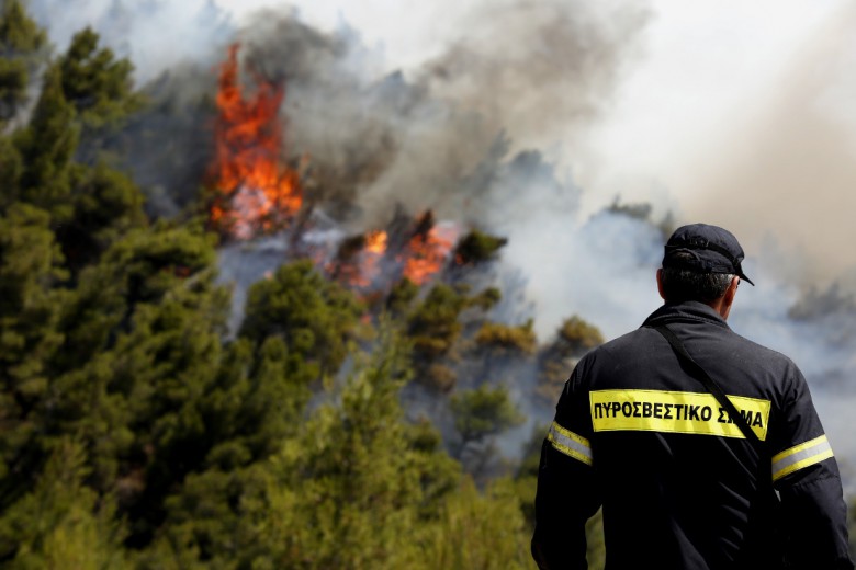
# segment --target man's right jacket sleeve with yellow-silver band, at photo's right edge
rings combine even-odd
[[[853,569],[838,466],[806,379],[799,371],[793,378],[770,434],[786,560],[793,569]]]

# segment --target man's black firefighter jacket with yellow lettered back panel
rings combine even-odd
[[[583,357],[542,447],[532,555],[587,568],[585,523],[602,505],[607,570],[853,568],[838,468],[800,371],[700,303],[666,323],[729,395],[765,456],[640,328]],[[774,491],[775,488],[775,491]],[[778,495],[778,497],[777,497]]]

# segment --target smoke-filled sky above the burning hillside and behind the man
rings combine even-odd
[[[140,84],[193,65],[211,70],[213,89],[226,45],[240,39],[266,72],[289,77],[295,151],[309,152],[330,186],[354,164],[364,171],[362,218],[349,230],[376,227],[398,202],[509,237],[502,278],[523,289],[542,340],[575,312],[612,338],[655,308],[663,238],[600,212],[616,196],[651,203],[657,219],[672,212],[677,224],[730,228],[758,284],[741,287],[734,328],[803,368],[856,470],[842,411],[856,392],[851,2],[31,7],[58,49],[92,25],[132,58]]]

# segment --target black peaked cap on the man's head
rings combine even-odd
[[[740,266],[743,258],[743,248],[729,230],[707,224],[691,224],[679,227],[668,238],[663,267],[699,273],[730,273],[755,285],[743,274]]]

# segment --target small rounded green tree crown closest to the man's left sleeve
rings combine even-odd
[[[508,390],[499,386],[482,385],[452,396],[454,426],[464,442],[480,441],[508,428],[520,425],[525,418],[508,398]]]

